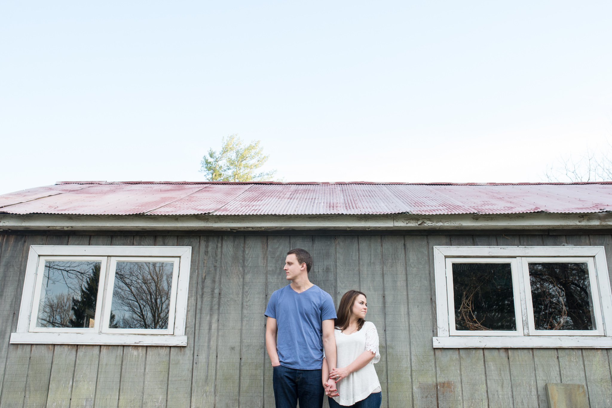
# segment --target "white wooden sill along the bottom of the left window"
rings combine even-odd
[[[10,343],[187,346],[187,336],[108,333],[11,333]]]

